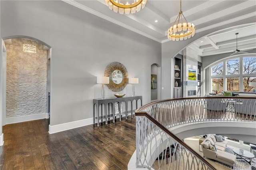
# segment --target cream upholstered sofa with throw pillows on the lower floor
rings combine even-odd
[[[234,154],[230,154],[225,152],[228,141],[224,140],[222,142],[217,142],[215,135],[210,134],[202,143],[202,150],[204,157],[210,158],[213,160],[217,160],[224,164],[228,164],[230,166],[234,166],[236,162],[236,156]],[[209,144],[216,146],[216,151],[210,150]]]

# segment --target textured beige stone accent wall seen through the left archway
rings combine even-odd
[[[47,51],[6,44],[6,118],[47,113]]]

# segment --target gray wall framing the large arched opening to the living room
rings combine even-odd
[[[232,22],[230,24],[226,24],[223,26],[218,26],[206,31],[196,32],[195,36],[183,41],[173,42],[168,41],[162,43],[162,99],[170,99],[172,98],[171,89],[174,87],[174,82],[170,76],[171,70],[173,69],[173,65],[171,64],[171,58],[174,57],[180,50],[184,49],[187,45],[193,43],[195,40],[202,38],[212,32],[216,32],[218,30],[222,30],[224,28],[229,28],[231,26],[237,26],[241,24],[253,23],[255,22],[255,17],[247,18],[244,20]],[[203,61],[203,65],[205,66]]]

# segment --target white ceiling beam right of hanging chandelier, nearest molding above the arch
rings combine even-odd
[[[198,20],[191,21],[195,26],[203,24],[204,22],[209,22],[211,20],[215,20],[217,18],[221,18],[223,16],[226,16],[228,14],[236,13],[240,10],[244,10],[248,7],[255,6],[255,1],[248,0],[246,2],[243,2],[241,4],[237,4],[235,6],[231,6],[229,8],[226,8],[225,10],[221,10],[219,12],[215,12],[214,14],[210,14],[208,16],[204,16],[202,18],[199,18]]]

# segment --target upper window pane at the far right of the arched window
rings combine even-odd
[[[244,74],[256,73],[256,57],[243,57],[243,72]]]

